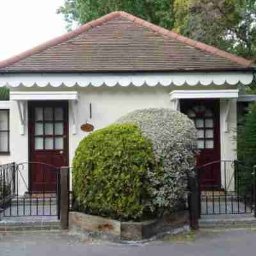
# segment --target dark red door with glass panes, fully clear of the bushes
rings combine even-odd
[[[68,102],[29,102],[30,191],[56,192],[52,166],[68,166]]]

